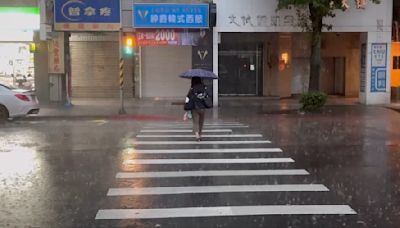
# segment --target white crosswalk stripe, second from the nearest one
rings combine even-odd
[[[110,188],[107,196],[170,195],[195,193],[234,193],[234,192],[327,192],[322,184],[287,185],[226,185],[226,186],[186,186],[151,188]]]

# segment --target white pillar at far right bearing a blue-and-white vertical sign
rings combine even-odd
[[[360,75],[360,103],[390,103],[391,32],[368,32],[361,35],[365,49]],[[363,52],[363,50],[361,51]]]

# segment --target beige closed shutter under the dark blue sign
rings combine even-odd
[[[72,97],[119,97],[119,44],[115,41],[71,42]],[[132,58],[125,60],[126,97],[132,97]]]

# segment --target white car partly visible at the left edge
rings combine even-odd
[[[39,113],[39,101],[33,92],[0,84],[0,120]]]

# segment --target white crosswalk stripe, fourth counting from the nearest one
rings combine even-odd
[[[124,161],[125,165],[167,165],[167,164],[252,164],[291,163],[291,158],[223,158],[223,159],[135,159]]]

